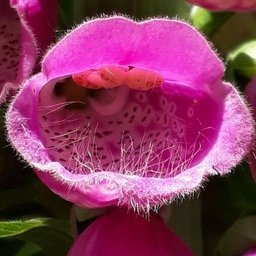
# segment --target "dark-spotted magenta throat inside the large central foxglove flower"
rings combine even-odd
[[[62,77],[38,97],[42,142],[52,160],[73,174],[175,177],[215,144],[224,107],[207,92],[168,77],[143,91],[125,82],[88,89]]]

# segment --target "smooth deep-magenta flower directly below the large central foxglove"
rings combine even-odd
[[[68,256],[192,256],[159,216],[150,220],[126,209],[111,209],[78,237]]]

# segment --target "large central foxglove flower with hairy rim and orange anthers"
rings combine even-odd
[[[7,114],[10,142],[63,198],[148,212],[250,150],[250,113],[223,73],[184,22],[95,19],[25,82]]]

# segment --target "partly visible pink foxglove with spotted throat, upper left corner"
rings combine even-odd
[[[0,103],[31,73],[54,37],[57,0],[1,0]]]

